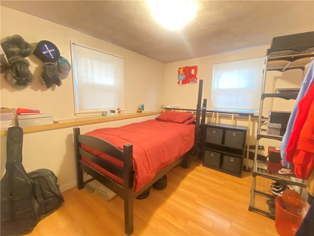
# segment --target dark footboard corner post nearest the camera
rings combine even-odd
[[[124,155],[124,227],[125,233],[133,233],[133,146],[126,144],[123,146]]]

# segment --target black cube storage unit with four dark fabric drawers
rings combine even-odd
[[[202,165],[242,177],[246,135],[246,126],[207,123]]]

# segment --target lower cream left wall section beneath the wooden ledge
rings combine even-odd
[[[88,131],[104,128],[118,127],[131,122],[140,122],[156,116],[132,118],[111,121],[92,125],[80,126],[81,134]],[[1,150],[1,177],[5,173],[6,136],[0,137]],[[52,170],[58,177],[60,190],[65,191],[77,185],[73,128],[62,128],[49,131],[26,133],[23,136],[23,166],[26,172],[46,168]]]

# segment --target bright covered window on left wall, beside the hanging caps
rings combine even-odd
[[[72,42],[76,115],[124,106],[123,58]]]

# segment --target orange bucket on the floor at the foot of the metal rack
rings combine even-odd
[[[276,197],[275,227],[281,236],[294,236],[310,205],[290,196]]]

